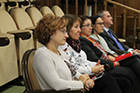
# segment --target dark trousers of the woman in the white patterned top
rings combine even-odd
[[[87,93],[130,93],[130,91],[131,83],[126,78],[114,78],[112,75],[105,75],[96,80],[94,88]]]

